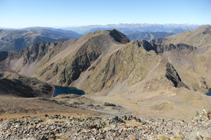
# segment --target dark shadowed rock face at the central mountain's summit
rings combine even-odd
[[[130,42],[130,40],[124,34],[122,34],[120,31],[118,31],[116,29],[112,29],[112,30],[108,30],[108,31],[109,31],[110,36],[112,36],[115,41],[122,43],[122,44],[127,44],[128,42]]]

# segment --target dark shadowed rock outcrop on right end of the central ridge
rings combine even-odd
[[[188,86],[182,82],[179,74],[170,63],[166,64],[166,77],[174,84],[175,87],[185,87],[189,89]]]

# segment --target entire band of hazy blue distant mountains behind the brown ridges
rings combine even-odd
[[[81,34],[114,28],[124,33],[130,40],[151,40],[182,33],[198,26],[195,24],[108,24],[63,29],[51,27],[0,28],[0,50],[21,50],[34,43],[67,41],[80,38]]]

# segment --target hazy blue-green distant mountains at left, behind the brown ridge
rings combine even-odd
[[[0,30],[0,50],[21,50],[40,42],[66,41],[82,35],[54,28],[26,28],[23,30]]]

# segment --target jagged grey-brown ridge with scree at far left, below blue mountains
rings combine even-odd
[[[64,50],[67,44],[73,44],[75,41],[76,39],[67,42],[41,42],[20,51],[4,52],[5,55],[2,55],[4,57],[0,61],[1,69],[29,76]]]

